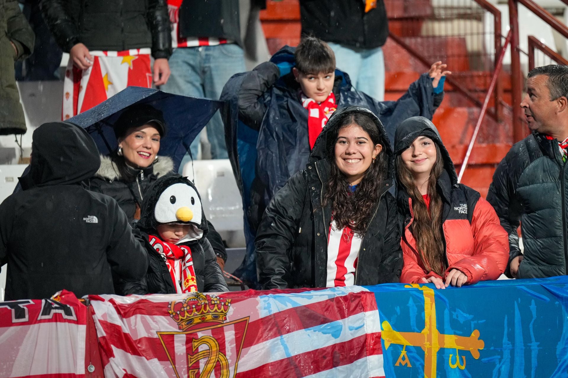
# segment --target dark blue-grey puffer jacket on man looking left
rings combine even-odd
[[[568,274],[567,169],[558,141],[533,132],[511,147],[493,175],[487,201],[509,234],[509,264],[523,254],[521,223],[518,278]],[[509,266],[506,274],[511,277]]]

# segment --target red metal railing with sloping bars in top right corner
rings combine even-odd
[[[568,4],[568,0],[561,0]],[[537,15],[540,19],[550,25],[554,30],[568,39],[568,27],[561,23],[550,12],[546,11],[533,0],[509,0],[509,24],[511,26],[511,100],[513,105],[513,141],[517,142],[527,135],[527,128],[523,117],[523,111],[519,107],[521,96],[523,95],[524,74],[521,70],[519,48],[519,4],[527,7],[527,9]],[[529,37],[529,69],[534,68],[534,51],[538,49],[546,56],[557,63],[566,64],[566,60],[555,53],[552,49],[545,46],[534,37]]]

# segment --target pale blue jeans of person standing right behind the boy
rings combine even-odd
[[[335,66],[346,72],[356,90],[375,100],[385,100],[385,57],[383,49],[361,49],[328,42],[335,53]]]

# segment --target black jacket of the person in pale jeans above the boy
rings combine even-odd
[[[326,42],[373,49],[385,44],[389,20],[383,0],[365,13],[362,0],[300,0],[302,34]]]

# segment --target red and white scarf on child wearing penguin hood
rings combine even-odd
[[[183,245],[178,246],[162,241],[153,235],[148,235],[148,241],[164,258],[177,294],[197,292],[191,250]]]

